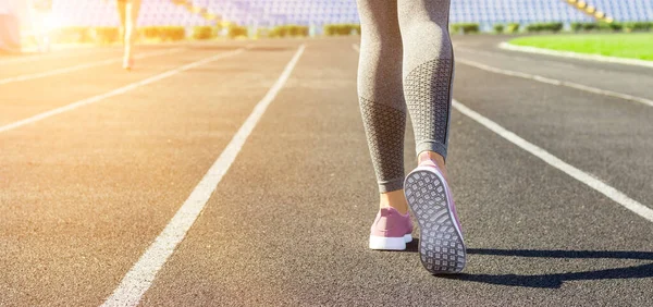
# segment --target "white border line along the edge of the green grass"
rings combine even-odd
[[[601,56],[601,54],[587,54],[587,53],[579,53],[579,52],[571,52],[571,51],[551,50],[551,49],[537,48],[537,47],[530,47],[530,46],[517,46],[517,45],[508,44],[505,41],[500,44],[498,48],[504,49],[504,50],[525,52],[525,53],[535,53],[535,54],[553,56],[553,57],[568,58],[568,59],[579,59],[579,60],[586,60],[586,61],[626,64],[626,65],[653,69],[653,61],[646,61],[646,60],[626,59],[626,58],[606,57],[606,56]]]

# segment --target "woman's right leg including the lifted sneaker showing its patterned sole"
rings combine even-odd
[[[420,259],[435,274],[460,272],[467,261],[444,171],[454,76],[448,14],[449,0],[398,0],[404,95],[419,160],[406,177],[406,199],[419,223]]]

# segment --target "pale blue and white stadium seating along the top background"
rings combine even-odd
[[[616,21],[653,20],[651,0],[589,0]],[[222,20],[239,25],[274,26],[358,23],[355,0],[193,0]],[[53,0],[52,13],[62,26],[114,26],[118,16],[113,1]],[[497,23],[591,22],[592,17],[560,0],[452,0],[451,22],[480,23],[483,28]],[[139,24],[210,25],[200,14],[188,12],[171,0],[143,0]]]

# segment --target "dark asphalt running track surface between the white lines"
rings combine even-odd
[[[456,57],[653,99],[653,70],[504,51]],[[653,223],[454,111],[448,173],[469,248],[456,277],[367,249],[377,212],[357,105],[357,38],[147,46],[0,84],[0,126],[202,64],[0,132],[0,306],[98,306],[161,233],[276,82],[297,66],[156,275],[143,306],[650,306]],[[0,58],[0,79],[120,58],[116,48]],[[455,98],[653,206],[653,108],[458,63]],[[406,169],[415,167],[406,135]],[[417,237],[417,231],[414,236]]]

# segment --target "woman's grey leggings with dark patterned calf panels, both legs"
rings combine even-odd
[[[454,74],[449,0],[357,0],[358,96],[381,193],[404,187],[406,109],[417,155],[446,158]],[[407,107],[407,108],[406,108]]]

